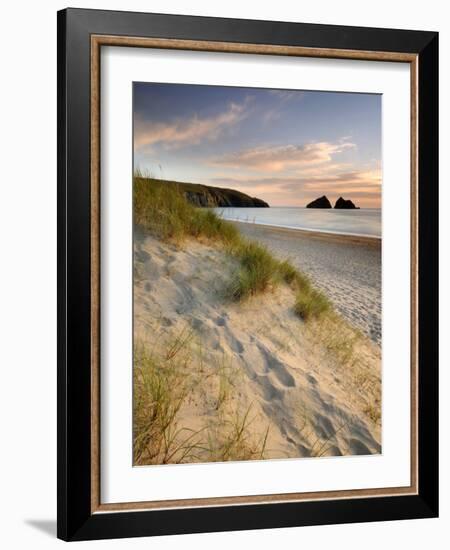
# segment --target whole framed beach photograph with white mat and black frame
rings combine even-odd
[[[58,13],[58,536],[438,514],[438,35]]]

